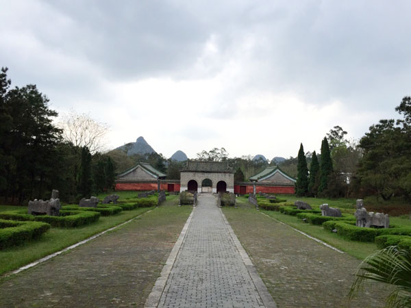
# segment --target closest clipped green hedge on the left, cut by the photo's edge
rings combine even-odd
[[[50,224],[45,222],[0,219],[0,249],[39,238],[42,233],[49,229]]]

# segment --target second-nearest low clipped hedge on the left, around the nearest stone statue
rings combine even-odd
[[[19,221],[42,221],[51,224],[52,227],[73,228],[96,222],[100,218],[100,213],[97,211],[73,211],[62,209],[60,210],[60,216],[33,216],[27,214],[25,209],[17,209],[15,211],[1,212],[0,218]]]

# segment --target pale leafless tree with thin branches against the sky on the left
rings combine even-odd
[[[62,114],[58,126],[63,129],[63,138],[75,146],[87,146],[90,153],[105,150],[103,137],[108,133],[106,123],[98,122],[90,114],[78,114],[74,110]]]

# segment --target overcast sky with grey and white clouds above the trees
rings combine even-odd
[[[170,157],[317,151],[411,94],[411,1],[0,0],[0,66]]]

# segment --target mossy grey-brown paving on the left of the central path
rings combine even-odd
[[[189,211],[158,207],[0,281],[0,307],[144,307]]]

